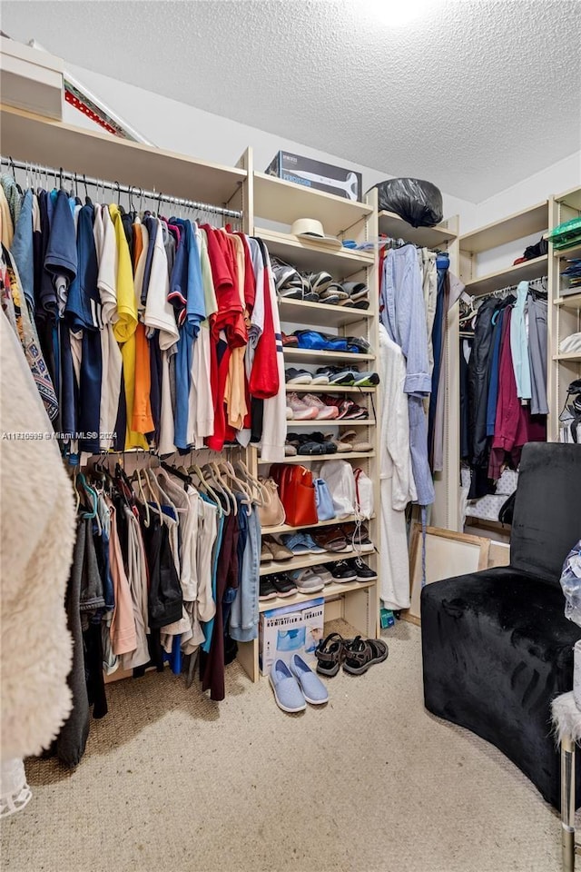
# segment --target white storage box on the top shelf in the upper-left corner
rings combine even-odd
[[[0,94],[7,106],[62,121],[63,61],[14,39],[0,37]]]

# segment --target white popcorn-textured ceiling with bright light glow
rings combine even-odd
[[[4,0],[2,29],[474,202],[581,148],[576,0]]]

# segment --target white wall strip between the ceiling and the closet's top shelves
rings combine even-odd
[[[320,152],[308,145],[296,143],[291,138],[283,139],[257,127],[239,124],[221,115],[202,112],[201,109],[178,103],[105,75],[92,73],[81,67],[71,64],[65,66],[79,83],[84,84],[125,122],[131,124],[135,130],[160,148],[192,154],[194,157],[214,163],[232,165],[237,163],[244,150],[251,145],[254,151],[254,167],[257,170],[265,170],[274,155],[281,149],[286,149],[326,163],[348,165],[350,169],[362,173],[364,191],[390,177],[387,158],[385,168],[371,168],[346,162],[331,152]],[[260,99],[258,94],[257,99]],[[281,112],[284,112],[284,107],[281,107]],[[94,124],[70,104],[65,104],[64,121],[94,129]],[[389,154],[387,144],[386,154]],[[131,179],[120,179],[120,181],[131,183]],[[179,195],[179,192],[174,193]],[[444,192],[442,194],[445,217],[459,214],[462,223],[472,217],[474,203]]]

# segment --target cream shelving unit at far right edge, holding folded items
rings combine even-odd
[[[549,201],[551,228],[581,215],[581,188],[552,197]],[[567,294],[566,277],[561,272],[566,268],[567,258],[581,257],[581,245],[556,251],[549,243],[549,363],[548,405],[550,410],[547,438],[559,441],[559,415],[566,400],[567,386],[581,378],[581,353],[559,352],[559,343],[571,333],[581,332],[581,292]]]

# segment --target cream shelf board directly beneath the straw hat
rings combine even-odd
[[[274,230],[254,228],[254,236],[259,236],[271,254],[281,258],[281,261],[291,263],[298,270],[319,272],[327,270],[334,279],[344,279],[353,272],[360,272],[373,265],[373,252],[354,252],[348,248],[339,251],[330,249],[328,245],[320,245],[300,240],[290,233],[277,233]]]

